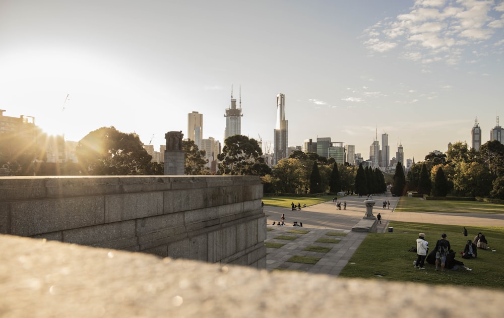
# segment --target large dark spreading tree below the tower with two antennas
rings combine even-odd
[[[224,144],[222,153],[217,156],[221,161],[218,174],[265,176],[271,173],[255,139],[234,135],[226,138]]]

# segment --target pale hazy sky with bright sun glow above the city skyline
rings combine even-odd
[[[367,159],[387,133],[418,162],[470,145],[476,117],[489,140],[503,58],[502,0],[0,0],[0,109],[73,141],[114,126],[158,150],[198,111],[223,144],[241,86],[241,134],[265,145],[283,93],[289,146]]]

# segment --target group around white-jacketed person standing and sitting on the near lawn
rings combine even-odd
[[[419,233],[416,240],[417,259],[413,262],[413,266],[415,268],[424,270],[424,262],[427,260],[428,263],[435,265],[436,271],[438,271],[439,268],[442,272],[444,272],[445,269],[455,271],[459,268],[465,269],[466,271],[472,271],[472,269],[465,266],[463,262],[455,259],[455,251],[451,248],[450,241],[448,241],[445,233],[441,234],[441,238],[436,241],[434,250],[432,250],[427,256],[427,252],[429,250],[428,244],[429,243],[425,240],[425,233]],[[468,240],[462,257],[466,259],[475,258],[475,251],[475,245],[471,240]],[[464,255],[466,255],[466,257],[464,257]]]

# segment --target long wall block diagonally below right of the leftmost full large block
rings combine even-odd
[[[99,245],[135,235],[135,221],[123,221],[63,231],[63,241],[81,245]]]

